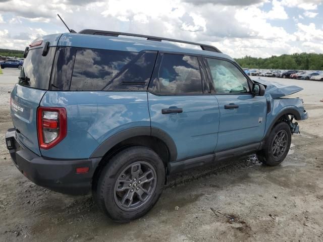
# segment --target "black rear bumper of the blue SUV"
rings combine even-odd
[[[9,129],[6,133],[7,146],[9,140],[13,163],[34,184],[71,195],[90,192],[92,176],[101,158],[58,160],[38,156],[17,141],[15,129]],[[89,171],[77,174],[78,167],[89,167]]]

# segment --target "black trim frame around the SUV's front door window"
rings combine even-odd
[[[226,61],[226,62],[233,64],[242,73],[242,75],[247,79],[247,83],[249,86],[249,92],[217,93],[217,91],[216,91],[217,89],[216,89],[216,87],[214,87],[211,70],[210,70],[210,67],[208,65],[206,58],[219,59],[220,61]],[[229,59],[226,59],[226,58],[215,57],[215,56],[203,56],[203,62],[205,65],[207,78],[209,81],[210,90],[211,90],[212,95],[250,95],[250,94],[252,94],[252,85],[254,82],[250,79],[250,77],[243,71],[243,69],[237,63],[230,61]]]

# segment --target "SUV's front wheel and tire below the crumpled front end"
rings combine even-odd
[[[276,143],[275,141],[276,141],[276,137],[279,138],[281,134],[285,134],[284,137],[286,137],[286,140],[285,139],[283,140],[286,141],[286,146],[282,151],[282,153],[279,153],[277,149],[281,149],[282,147],[276,148],[276,151],[275,151],[275,143]],[[287,156],[287,153],[291,146],[291,141],[292,141],[292,133],[289,125],[285,122],[279,123],[271,131],[270,135],[268,136],[265,142],[263,149],[257,153],[258,160],[263,164],[266,164],[269,166],[275,166],[280,164]]]

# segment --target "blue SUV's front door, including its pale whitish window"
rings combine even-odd
[[[216,152],[260,142],[266,124],[266,98],[251,94],[251,82],[236,64],[205,58],[220,108]]]

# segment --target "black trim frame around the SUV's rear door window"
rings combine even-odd
[[[189,55],[189,56],[195,56],[197,58],[197,63],[199,66],[199,72],[201,76],[201,91],[202,93],[171,93],[171,94],[161,94],[153,91],[153,86],[155,82],[158,81],[158,73],[160,70],[161,62],[163,61],[164,54],[177,54],[177,55]],[[201,66],[201,59],[200,57],[203,57],[201,54],[191,54],[191,53],[184,53],[184,52],[172,52],[172,51],[158,51],[157,58],[155,62],[155,66],[148,84],[147,92],[156,95],[156,96],[205,96],[205,95],[211,95],[209,82],[206,74],[206,70],[203,66]],[[204,73],[203,73],[204,72]],[[204,93],[204,85],[208,87],[209,92]]]

